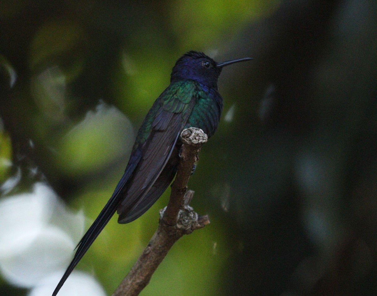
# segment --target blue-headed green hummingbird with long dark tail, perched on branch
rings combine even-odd
[[[198,127],[210,138],[223,109],[218,78],[223,67],[252,58],[216,63],[189,51],[173,67],[169,86],[156,99],[137,133],[126,170],[114,193],[77,245],[77,251],[55,288],[56,296],[72,270],[110,218],[125,224],[143,215],[172,183],[179,162],[183,129]]]

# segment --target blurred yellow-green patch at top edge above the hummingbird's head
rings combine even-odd
[[[239,31],[251,20],[271,14],[280,1],[174,1],[170,25],[181,48],[208,48],[219,38]]]

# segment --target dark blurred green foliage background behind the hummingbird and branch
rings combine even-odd
[[[372,0],[2,1],[0,156],[13,166],[0,182],[36,166],[23,190],[46,180],[94,219],[176,59],[253,57],[222,71],[224,114],[190,179],[211,224],[173,247],[142,295],[375,295],[376,20]],[[133,130],[98,123],[67,139],[98,104]],[[115,217],[84,257],[107,293],[166,202],[128,225]]]

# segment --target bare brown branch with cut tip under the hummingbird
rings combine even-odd
[[[167,207],[160,210],[158,229],[147,247],[120,283],[112,296],[136,296],[149,283],[158,265],[165,258],[173,244],[185,234],[209,224],[208,216],[198,216],[189,206],[194,192],[187,190],[187,182],[195,161],[198,160],[202,144],[207,135],[195,127],[181,133],[182,149],[175,181]]]

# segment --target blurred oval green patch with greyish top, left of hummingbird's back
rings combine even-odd
[[[100,104],[61,138],[57,162],[68,175],[93,173],[129,153],[135,136],[129,119]]]

